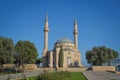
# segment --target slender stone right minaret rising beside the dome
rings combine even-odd
[[[74,34],[74,45],[75,45],[75,48],[78,48],[78,29],[77,29],[77,20],[76,19],[74,20],[74,31],[73,31],[73,34]]]

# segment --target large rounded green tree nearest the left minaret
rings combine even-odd
[[[33,43],[29,41],[18,41],[15,46],[16,63],[35,63],[38,53]]]

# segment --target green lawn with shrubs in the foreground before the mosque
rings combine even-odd
[[[47,78],[46,78],[47,77]],[[82,72],[56,72],[45,73],[20,80],[87,80]]]

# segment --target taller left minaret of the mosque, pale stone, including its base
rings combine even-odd
[[[44,49],[43,49],[43,67],[47,66],[47,51],[48,51],[48,16],[46,15],[44,24]]]

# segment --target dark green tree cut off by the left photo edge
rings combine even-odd
[[[14,44],[12,39],[0,37],[0,65],[13,63]]]

